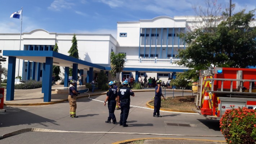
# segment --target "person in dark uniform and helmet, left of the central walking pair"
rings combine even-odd
[[[111,119],[113,121],[113,124],[117,124],[116,122],[116,116],[114,115],[114,109],[116,108],[116,97],[117,97],[117,90],[113,88],[114,82],[110,81],[108,83],[109,89],[107,92],[107,97],[104,102],[104,106],[106,106],[106,102],[108,101],[108,120],[105,121],[106,123],[111,123]]]

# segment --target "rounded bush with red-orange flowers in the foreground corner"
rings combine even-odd
[[[255,144],[256,110],[234,108],[226,110],[220,119],[221,132],[229,144]]]

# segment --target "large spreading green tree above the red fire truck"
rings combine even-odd
[[[207,67],[246,68],[256,64],[256,28],[252,26],[255,10],[245,10],[228,17],[210,31],[197,28],[182,35],[187,48],[179,50],[177,63],[194,69]]]

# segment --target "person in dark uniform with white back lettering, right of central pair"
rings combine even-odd
[[[135,96],[134,92],[130,90],[128,86],[128,81],[123,81],[123,87],[118,91],[118,104],[121,105],[121,114],[120,114],[120,123],[119,125],[123,127],[127,127],[126,120],[128,118],[129,110],[130,110],[130,96]]]

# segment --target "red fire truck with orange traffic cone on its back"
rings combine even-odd
[[[256,69],[212,68],[200,70],[193,111],[219,120],[227,109],[256,108]]]

